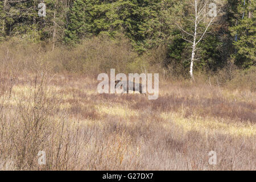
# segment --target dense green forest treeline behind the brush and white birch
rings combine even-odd
[[[46,16],[38,5],[46,4]],[[184,40],[177,22],[193,28],[189,0],[1,0],[0,41],[20,37],[31,42],[74,46],[86,38],[104,35],[130,40],[142,54],[163,50],[154,64],[187,74],[191,44]],[[227,64],[246,69],[256,64],[255,7],[251,0],[212,1],[221,7],[208,34],[198,44],[196,70],[216,71]],[[201,22],[201,26],[207,26]]]

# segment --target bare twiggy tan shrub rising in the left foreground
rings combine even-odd
[[[23,92],[22,97],[14,94],[19,114],[19,137],[15,148],[19,169],[32,169],[35,158],[43,144],[47,142],[51,125],[51,115],[55,114],[58,101],[49,89],[44,73],[36,74],[34,82]]]

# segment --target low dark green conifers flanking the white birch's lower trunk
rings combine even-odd
[[[217,35],[209,34],[198,44],[199,59],[195,61],[195,69],[210,69],[216,71],[217,68],[223,67],[225,60],[222,55],[222,43],[218,40]],[[172,34],[172,42],[168,46],[168,58],[164,63],[165,67],[168,65],[181,65],[188,68],[190,65],[191,44],[182,38],[179,30]]]

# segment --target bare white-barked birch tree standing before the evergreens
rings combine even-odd
[[[213,20],[220,10],[217,11],[217,5],[207,0],[189,0],[188,7],[191,7],[192,14],[189,17],[184,15],[183,19],[193,24],[192,30],[185,30],[181,22],[176,23],[176,25],[181,30],[182,38],[192,44],[189,75],[194,81],[193,65],[197,59],[200,59],[196,59],[196,51],[199,49],[197,44],[204,38],[204,35],[208,33],[209,27],[213,24]]]

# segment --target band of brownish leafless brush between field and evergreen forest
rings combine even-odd
[[[56,47],[53,51],[47,43],[34,44],[12,38],[0,43],[0,68],[12,74],[47,70],[52,73],[82,73],[89,77],[109,73],[114,68],[116,73],[159,73],[164,81],[186,80],[188,70],[181,65],[173,63],[168,68],[163,67],[168,59],[167,53],[162,46],[138,55],[122,35],[115,39],[105,36],[85,39],[76,47]],[[241,71],[229,61],[217,72],[195,72],[195,77],[198,84],[207,82],[213,86],[255,91],[255,72],[255,67]]]

